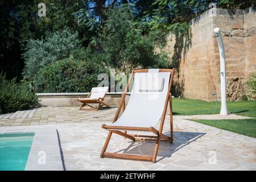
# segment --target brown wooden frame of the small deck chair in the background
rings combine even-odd
[[[90,98],[90,95],[92,94],[92,92],[89,93],[89,95],[86,97],[86,98]],[[80,99],[77,99],[77,101],[79,102],[82,102],[82,105],[81,107],[79,108],[79,110],[98,110],[100,109],[103,105],[106,106],[106,107],[110,107],[108,104],[106,104],[104,101],[104,98],[106,96],[106,93],[104,94],[104,97],[102,98],[92,98],[90,100],[80,100]],[[90,104],[98,104],[98,106],[92,106]],[[89,106],[90,108],[87,109],[87,108],[84,108],[85,106]]]

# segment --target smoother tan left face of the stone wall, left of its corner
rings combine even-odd
[[[213,17],[204,13],[200,19],[191,22],[189,32],[190,45],[187,53],[181,55],[179,82],[183,89],[183,96],[200,100],[208,100],[214,90],[211,57],[214,56],[212,42]]]

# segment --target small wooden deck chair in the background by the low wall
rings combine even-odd
[[[108,92],[109,87],[93,87],[90,91],[87,98],[79,98],[77,101],[82,102],[82,106],[79,110],[98,110],[101,106],[105,105],[109,107],[104,101],[104,98],[106,96],[106,92]],[[92,106],[90,104],[98,104],[97,107]],[[89,109],[83,108],[85,106],[89,106]]]

